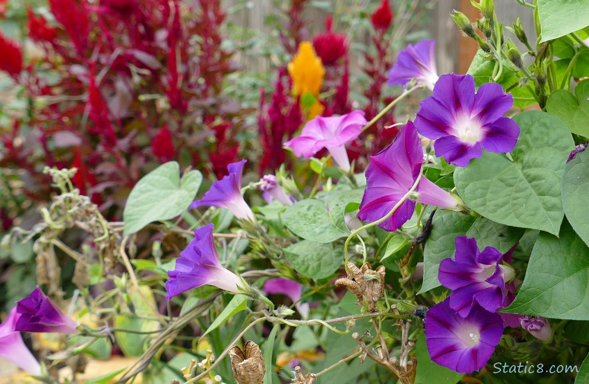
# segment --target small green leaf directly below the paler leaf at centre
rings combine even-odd
[[[284,254],[294,270],[311,279],[331,276],[342,265],[343,249],[332,244],[302,240],[284,248]]]

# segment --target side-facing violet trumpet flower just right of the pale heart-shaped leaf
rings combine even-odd
[[[203,198],[190,204],[190,209],[200,206],[227,208],[237,219],[255,220],[252,209],[241,196],[241,174],[246,161],[243,159],[227,165],[229,174],[221,180],[213,181]]]

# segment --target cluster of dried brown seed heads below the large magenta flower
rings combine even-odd
[[[335,284],[346,287],[355,294],[360,305],[365,298],[369,312],[376,312],[378,310],[376,302],[385,292],[385,266],[379,266],[375,271],[371,268],[370,263],[365,263],[362,268],[358,268],[354,263],[349,262],[348,277],[337,279]]]

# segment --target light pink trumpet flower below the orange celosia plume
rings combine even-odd
[[[297,157],[305,158],[311,158],[322,148],[327,148],[337,166],[347,172],[350,160],[345,144],[357,138],[367,123],[363,111],[352,111],[337,117],[317,116],[305,124],[300,136],[284,145],[292,148]]]

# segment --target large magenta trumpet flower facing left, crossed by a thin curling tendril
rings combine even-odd
[[[421,172],[423,150],[415,125],[409,120],[397,134],[395,141],[378,154],[370,157],[366,169],[366,190],[360,203],[358,218],[376,221],[385,217],[411,189]],[[419,180],[415,199],[428,206],[457,208],[459,202],[426,177]],[[385,231],[396,231],[415,210],[411,198],[403,201],[391,217],[378,224]]]

